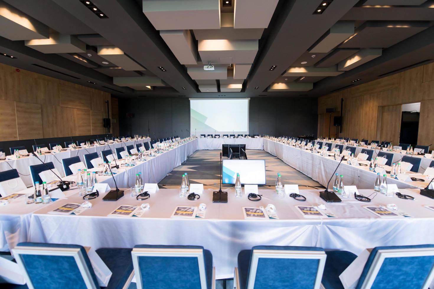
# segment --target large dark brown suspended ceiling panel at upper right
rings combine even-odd
[[[427,21],[367,21],[339,48],[387,48],[428,27]]]

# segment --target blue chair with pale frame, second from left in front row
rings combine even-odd
[[[215,287],[213,256],[204,247],[137,245],[131,255],[138,289]]]

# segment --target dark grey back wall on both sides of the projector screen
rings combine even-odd
[[[317,111],[316,98],[250,98],[250,134],[299,136],[312,133],[316,136]],[[127,113],[133,113],[135,117],[127,119]],[[148,134],[149,123],[151,138],[154,133],[157,138],[185,137],[190,130],[190,101],[188,98],[119,98],[121,136],[129,133],[130,121],[133,135]]]

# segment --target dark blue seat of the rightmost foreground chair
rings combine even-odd
[[[339,275],[357,258],[357,255],[348,251],[326,251],[322,285],[326,289],[343,289]]]

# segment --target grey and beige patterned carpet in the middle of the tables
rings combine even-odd
[[[263,150],[248,149],[246,153],[248,159],[265,159],[266,186],[260,186],[260,189],[269,188],[268,186],[274,187],[278,172],[282,175],[284,185],[295,184],[323,188],[318,182]],[[190,183],[204,184],[207,185],[206,188],[218,189],[220,184],[220,150],[197,150],[181,166],[171,171],[159,183],[160,187],[174,188],[174,186],[181,185],[182,174],[185,172],[188,174]],[[231,187],[231,185],[223,185],[222,188],[224,187]]]

